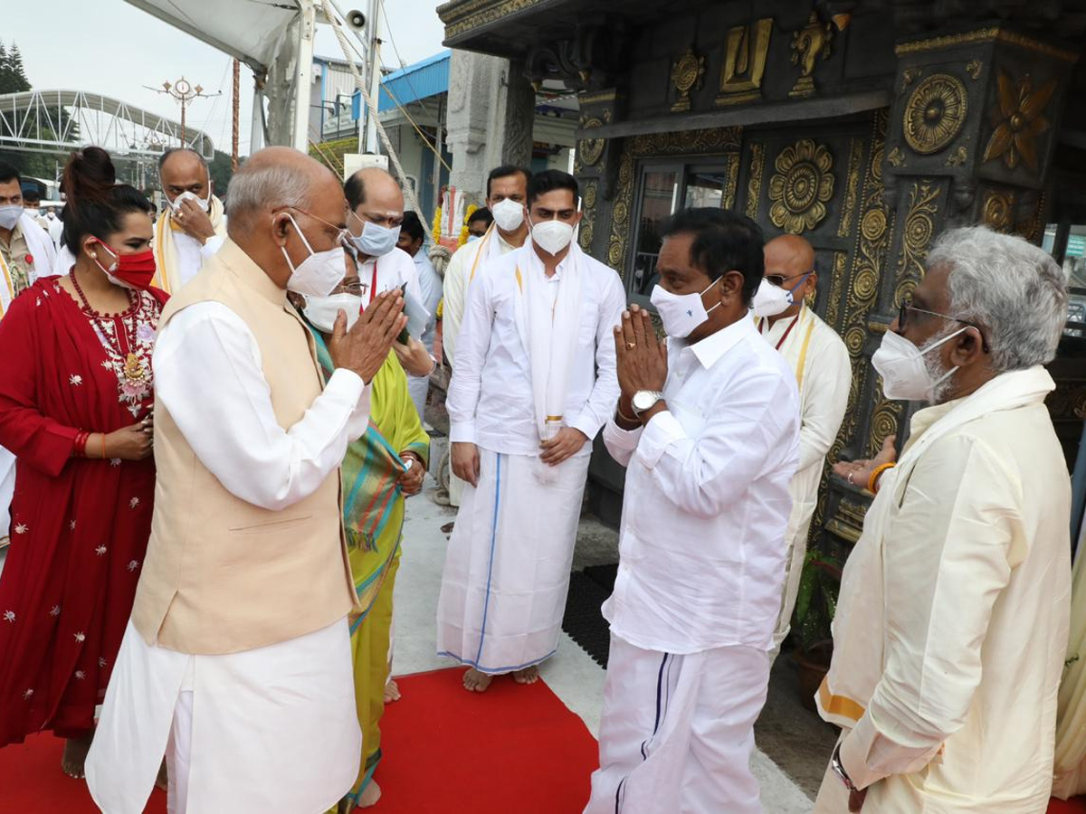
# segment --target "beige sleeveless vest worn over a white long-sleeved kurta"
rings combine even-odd
[[[167,303],[160,330],[201,302],[223,303],[253,332],[276,420],[289,429],[323,381],[313,339],[286,292],[227,241]],[[338,469],[308,497],[268,511],[227,492],[162,404],[154,424],[154,517],[132,608],[148,644],[231,653],[312,633],[351,611]]]

